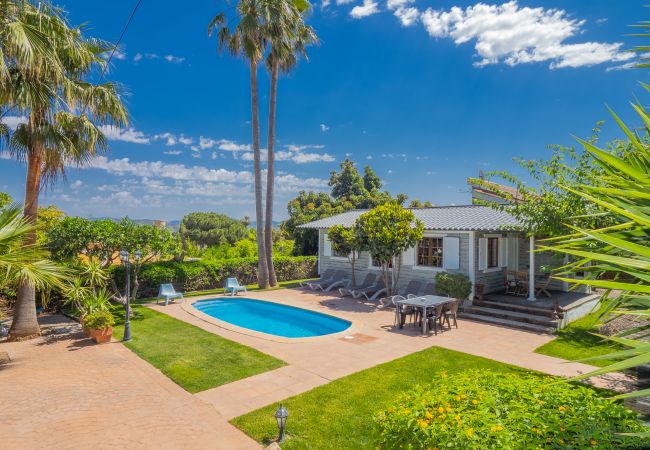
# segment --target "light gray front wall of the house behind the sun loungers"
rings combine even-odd
[[[325,235],[326,230],[320,230],[318,235],[318,255],[320,262],[321,273],[327,269],[341,269],[350,271],[350,263],[345,257],[325,256]],[[400,271],[400,278],[397,283],[398,291],[406,287],[411,280],[419,280],[422,283],[431,283],[435,281],[437,272],[447,271],[450,273],[464,273],[469,276],[469,248],[470,248],[470,233],[461,232],[445,232],[445,231],[426,231],[425,237],[456,237],[459,244],[459,268],[457,270],[447,270],[442,268],[422,267],[417,266],[416,251],[413,249],[411,252],[405,252],[402,255],[402,268]],[[444,258],[444,254],[443,254]],[[381,270],[371,266],[370,255],[367,252],[361,252],[355,264],[355,276],[357,283],[361,283],[368,273],[380,274]]]

